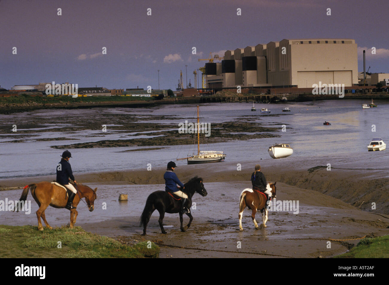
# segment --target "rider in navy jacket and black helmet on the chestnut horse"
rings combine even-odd
[[[72,154],[70,151],[65,150],[62,153],[62,158],[61,161],[57,164],[57,179],[56,181],[60,183],[61,185],[65,186],[66,189],[70,190],[69,192],[69,198],[68,202],[65,206],[66,209],[71,210],[71,209],[76,209],[72,205],[73,199],[77,193],[77,190],[74,188],[72,184],[69,183],[69,177],[74,181],[74,184],[76,184],[76,181],[74,180],[73,172],[72,172],[72,167],[70,166],[69,163],[69,158],[72,157]]]

